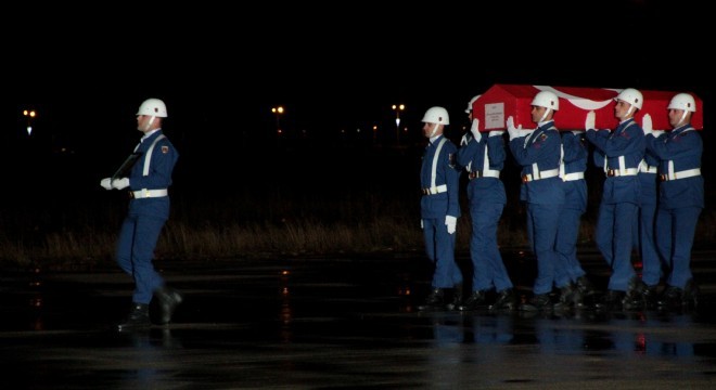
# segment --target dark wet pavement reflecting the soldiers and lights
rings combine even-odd
[[[534,260],[503,255],[527,296]],[[581,255],[603,289],[601,258]],[[419,312],[420,253],[162,260],[184,302],[171,325],[131,333],[115,330],[131,289],[117,269],[5,270],[2,388],[713,389],[715,258],[693,253],[695,310],[537,314]]]

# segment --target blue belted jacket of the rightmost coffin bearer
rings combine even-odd
[[[701,168],[703,141],[691,125],[681,126],[660,138],[647,136],[647,147],[660,158],[659,173],[668,172],[669,161],[674,171]],[[661,207],[704,207],[704,180],[702,176],[662,181],[660,184]]]

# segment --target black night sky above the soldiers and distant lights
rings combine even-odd
[[[97,186],[141,135],[135,113],[146,98],[167,103],[166,131],[200,170],[229,169],[238,154],[282,169],[270,157],[281,153],[277,105],[286,136],[325,148],[372,126],[387,143],[400,103],[411,136],[442,105],[459,139],[468,101],[495,83],[692,91],[709,107],[702,3],[22,5],[21,27],[3,28],[3,158],[54,165],[44,153],[68,151],[73,171],[52,174]],[[38,110],[40,146],[23,138],[26,107]]]

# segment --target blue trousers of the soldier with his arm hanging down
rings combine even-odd
[[[456,235],[448,234],[445,218],[423,219],[425,253],[435,265],[433,287],[452,288],[462,283],[462,271],[455,261]]]

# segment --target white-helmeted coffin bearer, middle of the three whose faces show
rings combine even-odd
[[[640,183],[637,173],[644,156],[644,133],[634,120],[641,109],[641,92],[627,88],[614,98],[614,116],[619,125],[613,132],[594,130],[596,114],[585,120],[587,140],[604,155],[602,199],[597,219],[594,240],[612,269],[608,290],[599,307],[638,309],[645,289],[631,264],[632,223],[638,217]]]

